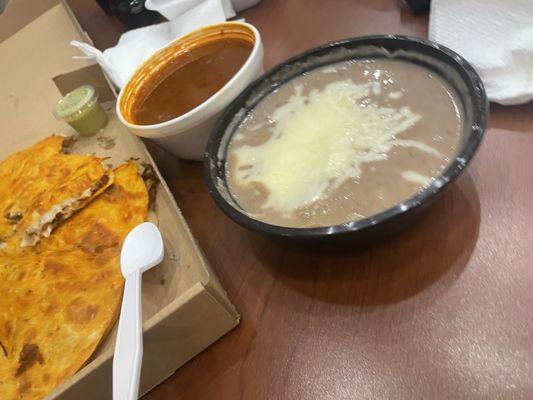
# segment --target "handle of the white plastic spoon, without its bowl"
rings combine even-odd
[[[141,273],[126,277],[113,358],[113,400],[136,400],[143,353]]]

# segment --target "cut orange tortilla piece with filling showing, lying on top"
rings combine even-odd
[[[100,158],[63,154],[50,136],[0,163],[0,250],[18,252],[83,208],[113,182]]]

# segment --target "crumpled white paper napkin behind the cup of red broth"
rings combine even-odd
[[[124,33],[115,47],[101,52],[95,47],[78,41],[70,44],[79,48],[85,57],[94,58],[111,81],[122,88],[130,76],[155,51],[172,40],[198,29],[233,17],[233,8],[226,0],[183,0],[187,7],[172,21],[134,29]],[[231,6],[231,3],[230,3]]]

